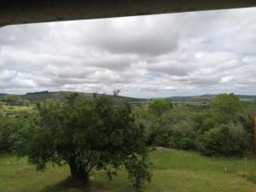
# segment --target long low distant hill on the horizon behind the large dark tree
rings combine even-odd
[[[73,93],[78,93],[80,96],[90,98],[93,96],[92,93],[84,93],[84,92],[75,92],[75,91],[53,91],[49,92],[48,90],[45,91],[40,91],[40,92],[31,92],[31,93],[26,93],[25,95],[19,95],[21,98],[29,100],[30,102],[40,102],[45,99],[56,99],[61,102],[65,101],[66,97],[73,94]],[[3,96],[6,96],[8,94],[1,94],[0,93],[0,98]],[[133,97],[128,97],[128,96],[119,96],[120,99],[125,100],[127,102],[142,102],[145,101],[145,99],[138,99],[138,98],[133,98]]]

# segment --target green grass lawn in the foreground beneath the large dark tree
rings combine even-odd
[[[256,192],[256,183],[244,177],[245,172],[256,172],[256,160],[210,158],[194,152],[165,149],[151,154],[154,163],[152,183],[145,192]],[[79,192],[79,189],[60,189],[68,177],[67,166],[49,166],[45,172],[36,172],[26,159],[14,155],[0,155],[1,192]],[[108,181],[105,172],[94,172],[90,178],[91,192],[133,191],[126,181],[125,172]]]

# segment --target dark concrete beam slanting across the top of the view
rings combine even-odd
[[[1,0],[0,26],[255,6],[256,0]]]

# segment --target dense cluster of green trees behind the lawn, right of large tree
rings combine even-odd
[[[206,155],[242,155],[253,147],[253,117],[233,94],[216,96],[209,108],[173,108],[156,100],[138,119],[148,125],[148,144]]]

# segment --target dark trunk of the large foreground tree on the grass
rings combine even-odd
[[[77,163],[74,157],[71,157],[69,160],[69,168],[75,184],[84,186],[89,183],[89,172],[86,172],[84,166]]]

